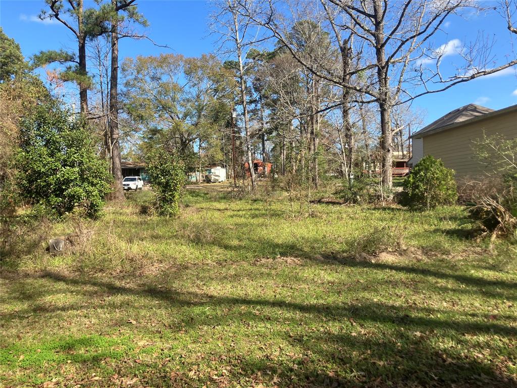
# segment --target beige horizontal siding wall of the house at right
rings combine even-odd
[[[517,112],[486,118],[471,124],[444,130],[423,138],[423,154],[442,159],[444,165],[456,172],[456,178],[477,176],[488,171],[476,158],[474,140],[483,136],[502,135],[517,138]]]

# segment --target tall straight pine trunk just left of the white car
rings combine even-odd
[[[117,0],[112,0],[117,7]],[[124,198],[122,188],[122,167],[118,133],[118,13],[115,12],[111,21],[111,77],[110,77],[110,134],[112,142],[111,160],[114,180],[113,198]]]

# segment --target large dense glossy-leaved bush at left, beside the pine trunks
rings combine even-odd
[[[75,209],[99,214],[110,190],[110,175],[85,121],[50,100],[21,120],[16,155],[20,195],[52,216]]]

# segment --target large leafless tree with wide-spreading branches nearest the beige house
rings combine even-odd
[[[305,3],[303,3],[305,4]],[[282,41],[303,66],[318,77],[345,89],[365,96],[365,101],[378,106],[382,150],[382,180],[391,187],[392,142],[390,111],[394,105],[407,102],[425,94],[437,93],[486,74],[517,64],[517,59],[498,67],[490,67],[494,57],[490,47],[479,42],[464,50],[464,64],[455,73],[445,76],[439,68],[444,52],[429,47],[430,39],[440,31],[440,26],[451,14],[466,7],[478,7],[468,0],[322,0],[322,4],[336,7],[338,12],[327,13],[327,28],[344,31],[355,37],[357,48],[364,47],[362,66],[347,74],[336,67],[314,66],[311,58],[300,54],[296,42],[290,37],[290,25],[300,17],[301,2],[278,6],[274,0],[263,0],[249,12],[245,4],[243,13],[257,25],[264,26]],[[260,7],[260,12],[257,8]],[[291,13],[291,14],[289,14]],[[328,17],[328,16],[333,17]],[[423,59],[422,59],[423,58]],[[436,69],[422,66],[434,61]],[[374,82],[366,82],[364,75],[374,75]]]

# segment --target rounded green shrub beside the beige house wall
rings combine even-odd
[[[410,207],[429,210],[457,199],[454,171],[431,155],[422,158],[404,180],[403,202]]]

